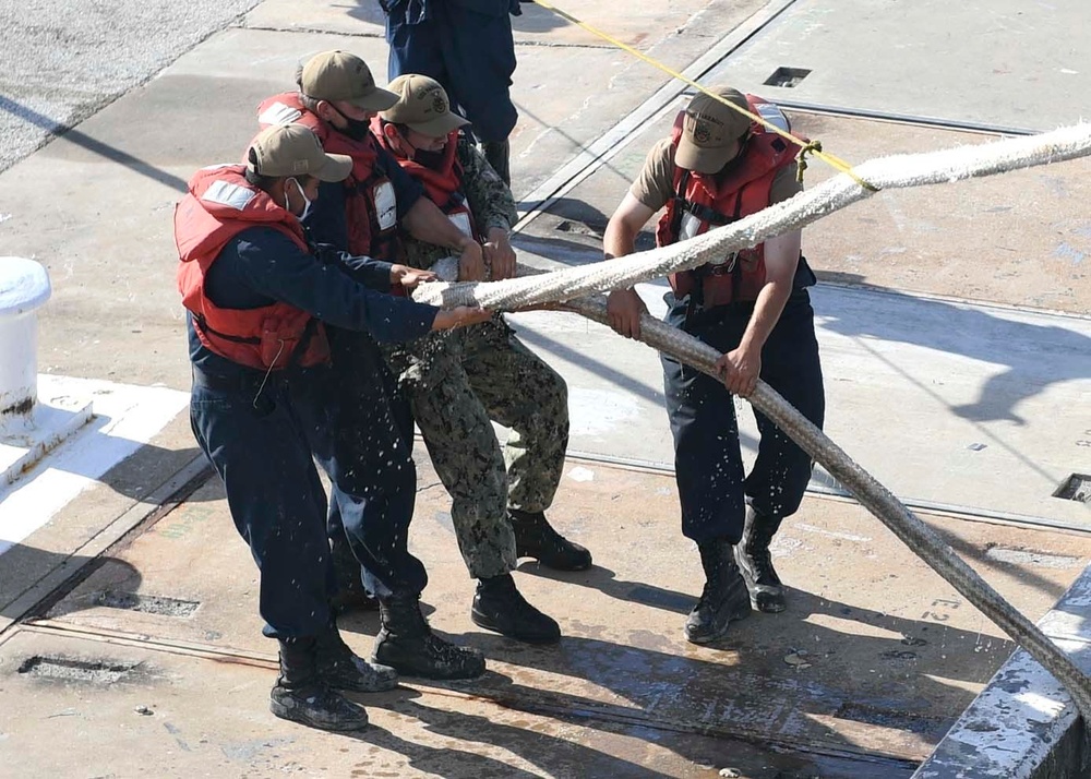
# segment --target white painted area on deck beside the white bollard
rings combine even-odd
[[[84,489],[155,436],[189,403],[167,387],[38,376],[38,396],[86,398],[95,418],[35,468],[0,489],[0,554],[48,523]]]

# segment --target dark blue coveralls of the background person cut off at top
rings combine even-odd
[[[385,0],[387,76],[435,79],[479,141],[504,141],[518,112],[508,87],[515,72],[511,16],[518,0]]]

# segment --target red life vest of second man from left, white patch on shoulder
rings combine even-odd
[[[338,249],[346,249],[358,256],[397,262],[397,199],[389,178],[375,169],[377,141],[371,133],[363,141],[355,141],[337,132],[307,110],[293,92],[274,95],[257,107],[257,123],[263,129],[291,122],[310,128],[326,152],[347,154],[352,158],[352,172],[344,181],[348,245]]]

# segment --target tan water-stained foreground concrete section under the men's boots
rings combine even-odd
[[[575,460],[551,517],[592,550],[596,565],[559,574],[523,563],[521,591],[565,637],[556,647],[520,645],[469,621],[473,583],[454,543],[449,500],[417,454],[411,548],[429,568],[425,611],[437,631],[480,648],[490,671],[360,698],[375,723],[363,741],[379,750],[369,753],[373,772],[359,776],[382,776],[381,767],[452,777],[687,777],[724,767],[747,777],[908,776],[1012,649],[877,520],[819,498],[807,499],[775,544],[789,610],[754,614],[719,646],[690,645],[681,626],[702,578],[678,532],[673,480]],[[1091,559],[1082,536],[927,519],[1032,619]],[[266,714],[275,647],[261,636],[256,594],[256,568],[209,480],[3,645],[0,685],[17,693],[5,695],[13,707],[0,716],[5,743],[45,771],[56,756],[29,748],[40,720],[59,733],[80,723],[81,739],[120,729],[131,743],[101,759],[113,750],[163,759],[169,747],[168,775],[216,775],[226,753],[239,759],[228,734],[251,743],[249,729],[261,728],[265,741],[232,764],[239,775],[298,763],[289,742],[322,744],[299,763],[304,775],[323,766],[350,775],[361,767],[359,745],[339,752],[333,744],[343,738]],[[376,616],[346,615],[341,628],[367,654]],[[140,672],[125,675],[127,663]],[[92,678],[80,681],[80,668]],[[119,673],[108,702],[73,699],[73,685],[96,687]],[[140,706],[153,715],[134,715]],[[220,718],[230,724],[217,726]],[[466,754],[429,768],[436,739]],[[515,772],[482,767],[493,759]],[[128,775],[123,759],[117,765]]]

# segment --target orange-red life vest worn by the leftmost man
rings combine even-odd
[[[221,309],[205,295],[208,268],[220,251],[249,227],[271,227],[309,252],[299,219],[247,183],[241,165],[199,170],[175,208],[178,289],[193,314],[201,343],[232,362],[261,371],[329,361],[321,322],[285,302],[257,309]]]

